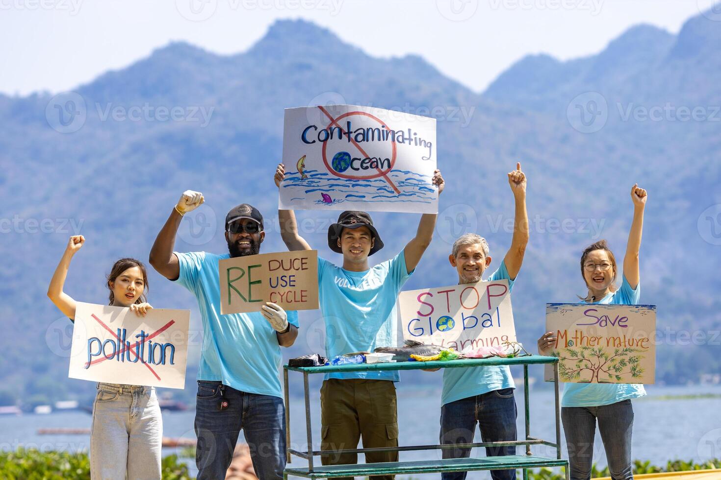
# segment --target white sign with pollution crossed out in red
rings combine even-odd
[[[185,388],[190,310],[129,308],[78,302],[71,379]]]

